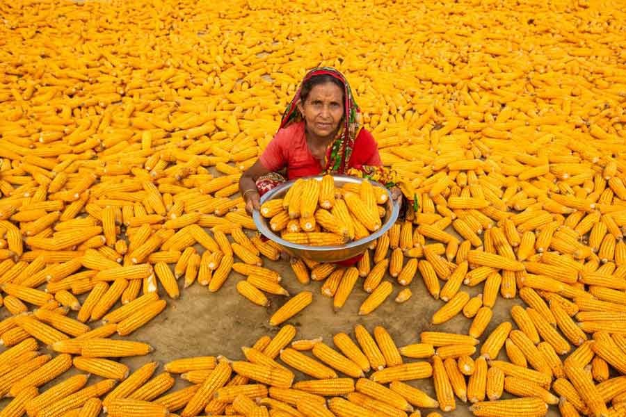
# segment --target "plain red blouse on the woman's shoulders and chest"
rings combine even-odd
[[[326,161],[328,158],[330,147],[326,151]],[[319,175],[323,171],[307,145],[304,122],[280,129],[259,157],[259,161],[273,172],[286,167],[287,179]],[[351,168],[360,168],[362,165],[383,165],[374,136],[365,129],[359,131],[348,162],[348,167]]]

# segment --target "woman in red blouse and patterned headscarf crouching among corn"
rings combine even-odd
[[[259,209],[263,193],[285,181],[325,173],[375,179],[401,191],[382,167],[376,141],[360,126],[360,109],[342,73],[330,67],[310,71],[282,116],[280,129],[252,167],[241,175],[246,211]]]

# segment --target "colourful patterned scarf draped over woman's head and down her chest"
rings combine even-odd
[[[311,70],[304,77],[302,83],[300,83],[300,86],[296,91],[294,99],[291,100],[285,109],[282,115],[282,120],[280,120],[279,129],[283,129],[284,127],[289,126],[289,124],[300,122],[302,120],[302,115],[296,106],[298,101],[300,101],[300,91],[302,90],[302,85],[312,76],[323,74],[328,74],[335,79],[338,79],[344,85],[344,108],[346,112],[342,120],[342,124],[339,127],[339,131],[337,131],[335,142],[332,142],[332,147],[330,148],[330,158],[326,161],[324,173],[328,174],[335,172],[338,174],[346,174],[354,142],[361,129],[361,111],[358,104],[356,104],[352,95],[352,90],[348,81],[346,81],[344,74],[331,67],[319,67]]]

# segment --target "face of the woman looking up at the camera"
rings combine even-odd
[[[315,85],[307,99],[298,103],[307,129],[320,138],[334,136],[344,116],[344,92],[335,83]]]

